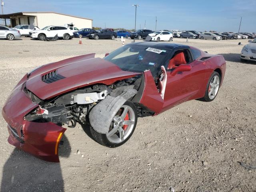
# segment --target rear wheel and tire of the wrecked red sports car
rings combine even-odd
[[[204,97],[200,98],[200,100],[205,102],[213,101],[218,94],[219,88],[220,88],[220,74],[214,71],[208,80],[206,90],[204,92]]]

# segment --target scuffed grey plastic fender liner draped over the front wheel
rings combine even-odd
[[[118,96],[111,94],[92,108],[89,120],[92,128],[101,134],[109,132],[110,124],[121,106],[137,93],[135,89],[126,89]]]

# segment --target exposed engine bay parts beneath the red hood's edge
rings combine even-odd
[[[39,105],[37,109],[27,114],[24,120],[33,122],[53,122],[60,126],[62,124],[68,124],[69,127],[75,127],[77,122],[88,124],[90,111],[107,97],[116,97],[122,94],[124,90],[129,90],[128,92],[134,90],[134,92],[132,91],[133,94],[130,94],[131,98],[127,98],[127,100],[132,100],[137,92],[143,92],[143,87],[140,91],[142,79],[143,76],[138,75],[117,81],[109,86],[94,84],[56,96],[50,100],[40,100],[32,92],[24,88],[27,96]],[[142,86],[144,86],[144,84]],[[133,102],[136,103],[136,100],[138,100],[138,98],[135,98]],[[150,116],[154,114],[154,112],[143,106],[138,105],[136,108],[138,116]]]

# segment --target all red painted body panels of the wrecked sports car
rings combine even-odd
[[[202,54],[200,58],[206,56],[211,56],[211,58],[205,61],[198,58],[186,64],[189,65],[186,70],[191,68],[190,71],[178,72],[178,67],[175,68],[177,72],[175,75],[172,75],[172,72],[168,70],[166,71],[167,83],[164,99],[157,90],[151,72],[145,71],[143,73],[144,91],[139,103],[154,111],[156,115],[184,101],[201,98],[204,96],[210,75],[216,69],[221,71],[221,85],[226,69],[224,58],[219,55],[207,54],[201,50],[200,52]],[[44,65],[32,72],[29,77],[26,74],[20,80],[7,99],[2,115],[8,125],[16,130],[20,138],[22,138],[22,128],[24,143],[18,141],[8,128],[10,133],[8,142],[10,144],[43,160],[59,161],[58,154],[54,150],[58,136],[60,133],[64,133],[66,129],[51,122],[36,123],[23,119],[26,114],[38,107],[38,104],[32,102],[23,92],[25,83],[28,90],[40,99],[46,100],[90,84],[110,85],[117,80],[141,74],[122,71],[115,64],[94,58],[94,55],[88,54]],[[51,84],[42,81],[43,75],[56,69],[58,69],[58,74],[65,77],[64,79]]]

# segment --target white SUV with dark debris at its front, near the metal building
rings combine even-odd
[[[58,38],[63,38],[64,40],[72,39],[73,32],[65,26],[46,26],[41,30],[34,30],[29,32],[31,38],[38,38],[38,40],[46,40],[46,38],[53,38],[58,34]]]

